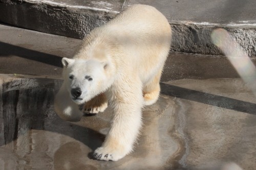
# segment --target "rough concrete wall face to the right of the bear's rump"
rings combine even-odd
[[[217,28],[226,29],[247,52],[256,57],[256,28],[235,28],[225,26],[200,26],[193,24],[171,23],[173,42],[171,50],[177,52],[222,55],[219,48],[211,42],[211,32]]]

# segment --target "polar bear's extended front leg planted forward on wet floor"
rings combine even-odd
[[[140,85],[129,88],[124,91],[115,89],[117,91],[112,101],[112,125],[102,147],[95,150],[95,159],[117,161],[133,150],[141,127],[143,95]]]

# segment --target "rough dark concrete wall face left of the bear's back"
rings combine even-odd
[[[3,1],[3,0],[2,0]],[[93,28],[108,22],[115,14],[104,11],[59,8],[42,3],[0,5],[0,21],[39,32],[82,39]]]

